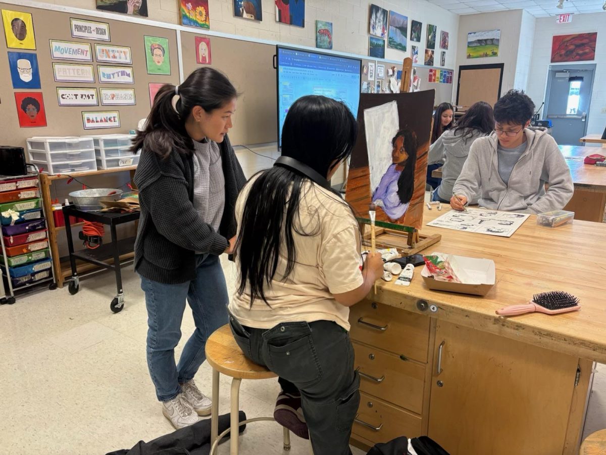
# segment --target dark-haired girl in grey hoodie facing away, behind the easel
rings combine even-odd
[[[430,166],[444,164],[442,183],[433,192],[434,201],[450,202],[454,182],[461,174],[471,144],[482,136],[488,136],[493,129],[492,106],[484,101],[478,101],[465,112],[454,129],[448,130],[431,144],[427,164]]]

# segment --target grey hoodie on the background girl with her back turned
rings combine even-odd
[[[467,135],[463,138],[469,130],[458,130],[456,133],[455,130],[456,128],[445,131],[435,143],[431,144],[427,158],[427,164],[444,163],[444,166],[442,166],[442,183],[438,187],[438,195],[445,201],[450,201],[453,195],[454,182],[461,174],[471,144],[476,139],[485,136],[484,133],[472,129],[471,136]]]

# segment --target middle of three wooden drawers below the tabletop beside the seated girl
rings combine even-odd
[[[360,390],[421,414],[424,365],[402,360],[381,349],[354,342],[355,368],[360,372]]]

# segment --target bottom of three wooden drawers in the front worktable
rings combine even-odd
[[[373,443],[387,442],[399,436],[421,435],[421,417],[395,408],[389,403],[360,393],[360,407],[351,430]]]

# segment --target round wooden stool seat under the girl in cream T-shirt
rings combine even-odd
[[[270,379],[274,372],[244,356],[231,334],[229,324],[213,332],[206,340],[206,360],[216,371],[240,379]]]

